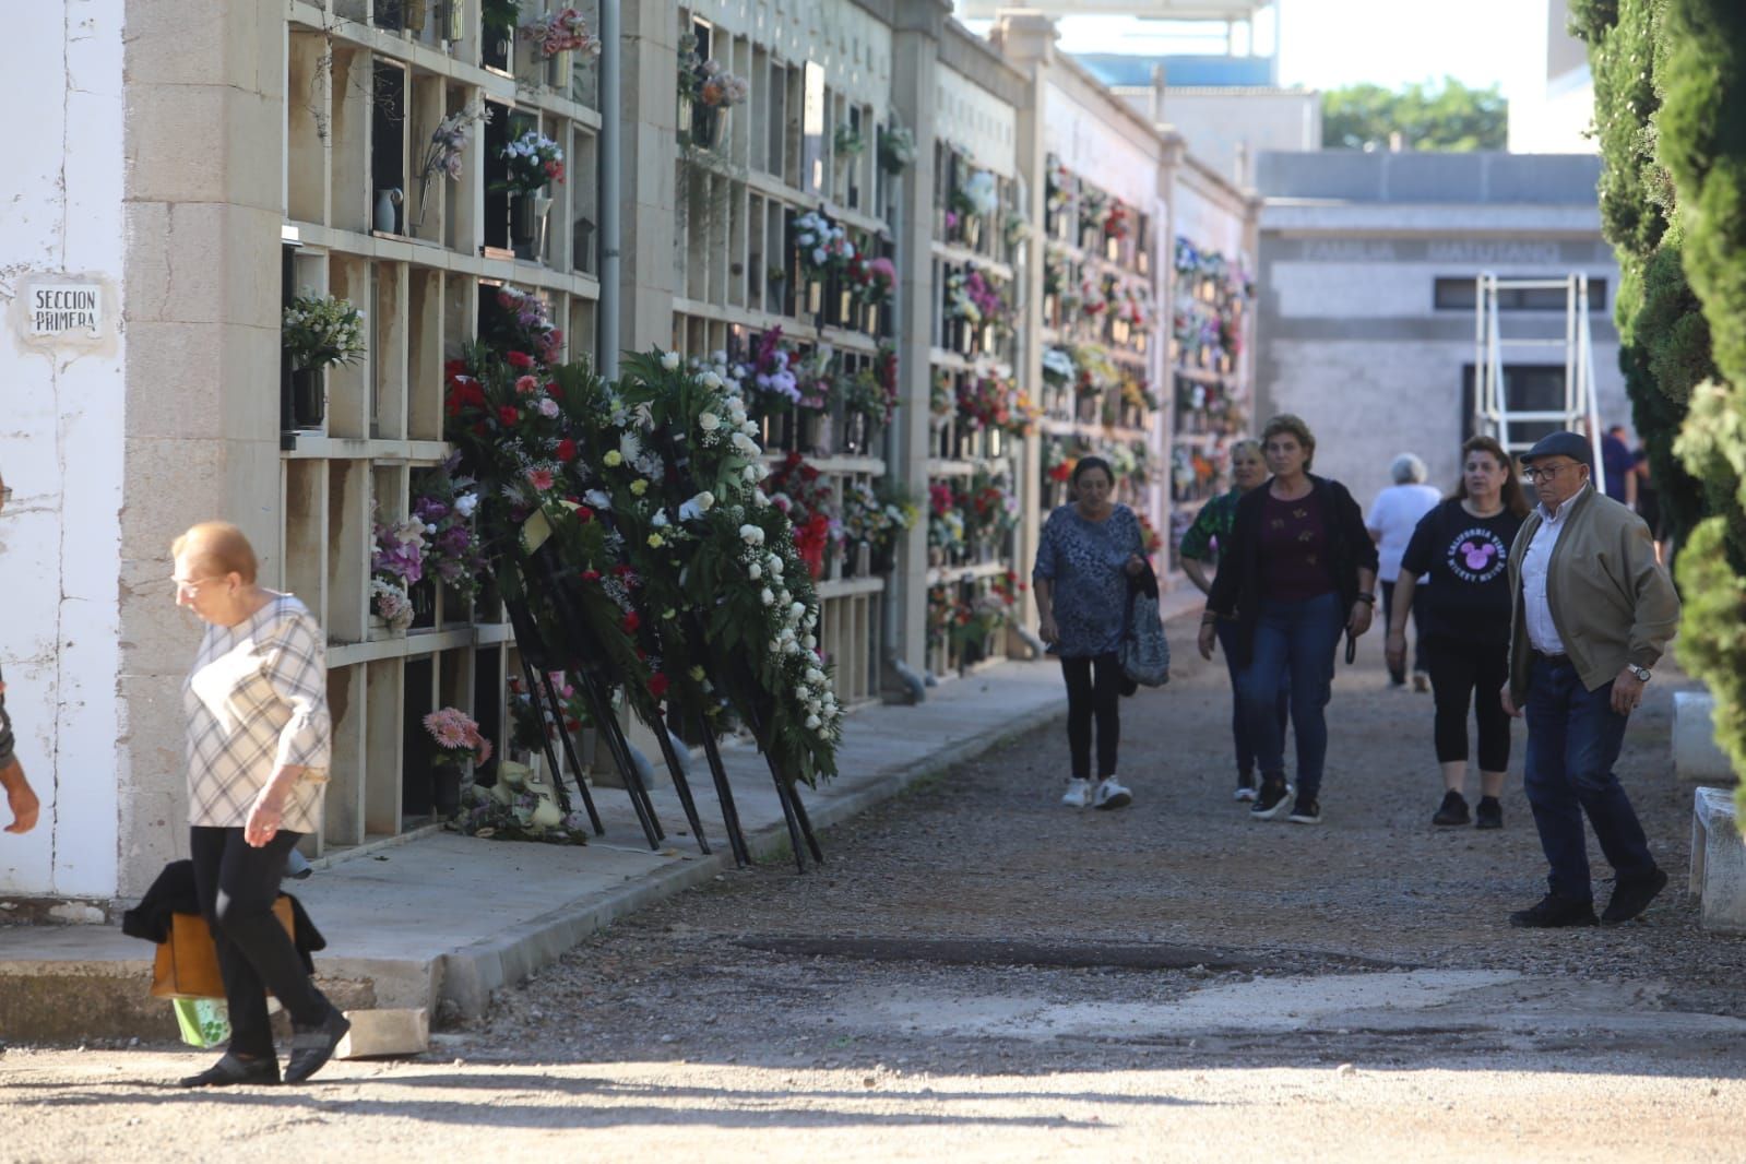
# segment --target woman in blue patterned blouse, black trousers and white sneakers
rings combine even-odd
[[[1062,660],[1067,681],[1067,750],[1074,775],[1063,805],[1121,808],[1133,794],[1116,780],[1121,740],[1121,647],[1128,578],[1145,569],[1140,520],[1110,504],[1116,475],[1109,461],[1083,457],[1074,466],[1074,501],[1049,515],[1037,544],[1032,588],[1039,633]],[[1095,679],[1093,679],[1095,670]],[[1096,789],[1091,787],[1091,721],[1096,721]]]

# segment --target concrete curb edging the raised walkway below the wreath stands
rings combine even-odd
[[[894,799],[904,789],[929,780],[948,768],[974,759],[1007,740],[1014,740],[1037,728],[1048,728],[1067,717],[1065,702],[1048,709],[1044,714],[1023,724],[1000,724],[980,735],[959,740],[925,761],[871,777],[854,792],[840,798],[808,805],[814,831],[824,831],[842,824],[859,813]],[[758,829],[746,838],[746,845],[754,862],[766,862],[789,857],[787,829],[773,824]],[[828,857],[828,853],[826,853]],[[517,927],[492,935],[487,941],[473,942],[442,955],[436,962],[436,984],[433,996],[438,1005],[438,1019],[480,1017],[491,1005],[491,995],[505,986],[513,986],[552,965],[578,944],[599,934],[613,921],[674,897],[688,888],[702,885],[721,873],[733,871],[733,855],[726,850],[726,838],[721,838],[716,852],[709,857],[697,857],[683,866],[656,869],[620,890],[595,897],[585,904],[553,909]],[[349,977],[346,960],[337,960],[323,972],[337,977]],[[377,1005],[416,1005],[409,1002],[388,1002],[379,998]]]

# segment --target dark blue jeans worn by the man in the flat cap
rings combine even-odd
[[[1655,869],[1648,839],[1638,824],[1613,763],[1626,740],[1627,717],[1612,707],[1613,684],[1587,691],[1568,661],[1535,658],[1528,674],[1528,761],[1523,785],[1533,808],[1552,874],[1547,881],[1559,897],[1591,900],[1587,836],[1589,815],[1594,838],[1606,862],[1620,878],[1638,878]]]

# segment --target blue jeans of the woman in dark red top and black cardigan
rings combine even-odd
[[[1297,735],[1297,794],[1315,799],[1322,791],[1327,761],[1327,717],[1323,709],[1334,691],[1334,647],[1346,628],[1337,593],[1297,602],[1266,599],[1255,623],[1248,667],[1238,679],[1243,726],[1255,745],[1262,777],[1285,771],[1285,724],[1280,695],[1290,689],[1292,728]]]

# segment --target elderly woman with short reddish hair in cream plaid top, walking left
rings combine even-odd
[[[206,623],[182,686],[189,848],[230,1005],[230,1047],[182,1085],[279,1082],[269,989],[292,1016],[285,1082],[299,1084],[351,1026],[272,916],[285,859],[321,811],[332,750],[327,640],[302,602],[255,581],[255,551],[236,525],[196,525],[173,553],[176,606]]]

